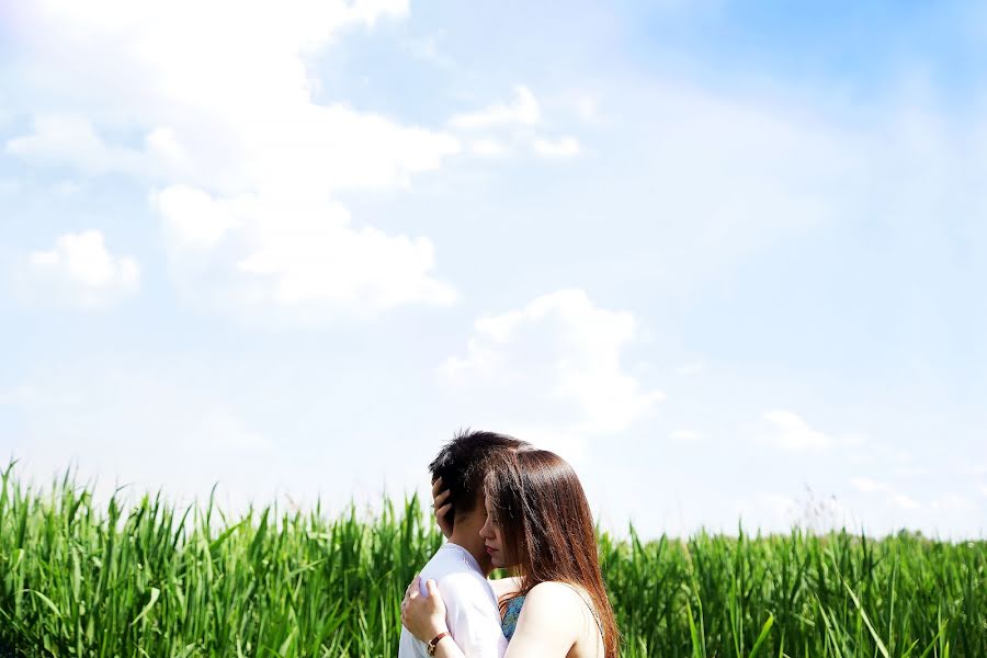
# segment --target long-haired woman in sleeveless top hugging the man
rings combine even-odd
[[[616,658],[620,637],[600,574],[592,515],[572,467],[544,450],[506,455],[487,474],[485,506],[480,535],[490,559],[519,576],[508,581],[510,591],[498,592],[510,639],[506,658]],[[428,591],[428,597],[419,593],[416,578],[401,602],[401,622],[426,643],[449,631],[445,605],[431,580]],[[463,656],[450,636],[434,647],[434,656]]]

